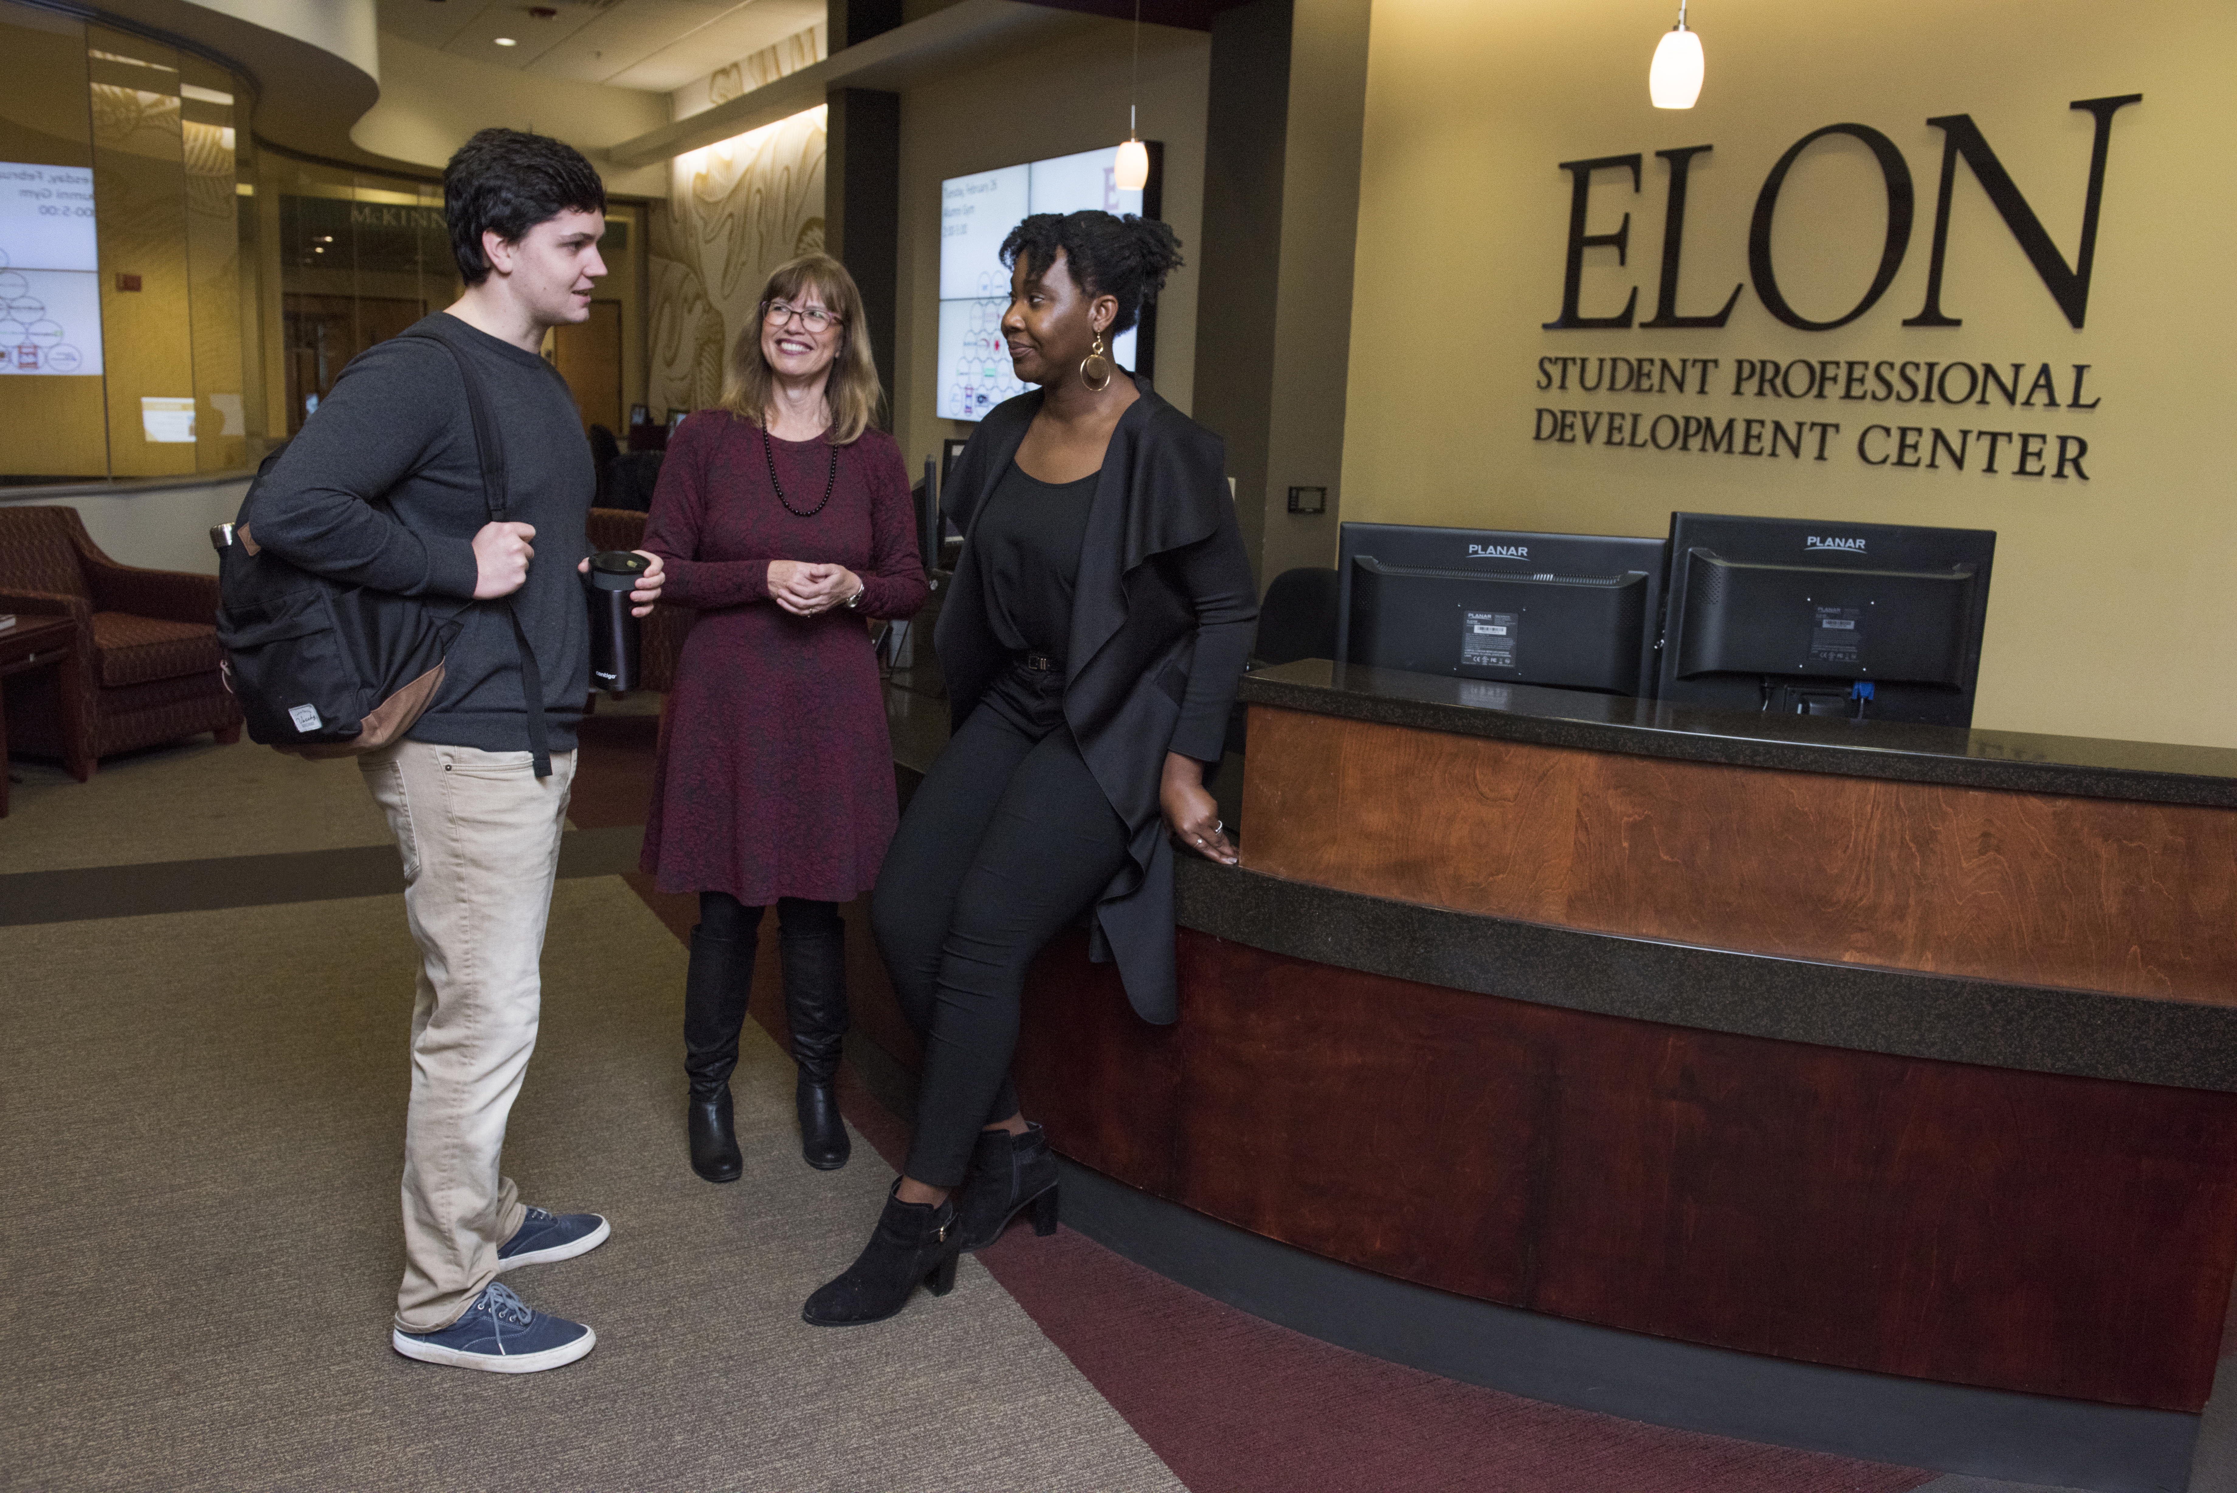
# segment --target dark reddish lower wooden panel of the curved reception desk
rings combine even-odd
[[[1036,965],[1029,1110],[1244,1229],[1807,1363],[2186,1412],[2212,1388],[2237,1095],[1693,1032],[1186,929],[1168,1088],[1072,1045],[1085,1001],[1123,1012],[1078,954]]]

